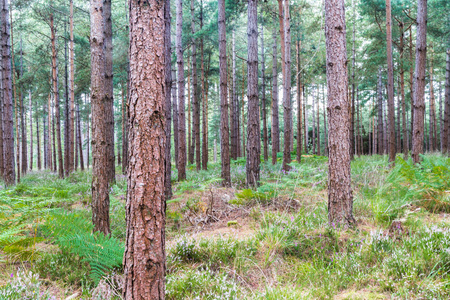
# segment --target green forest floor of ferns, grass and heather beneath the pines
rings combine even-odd
[[[232,188],[220,164],[188,166],[167,207],[167,299],[449,299],[447,157],[355,157],[350,229],[328,224],[326,157],[280,166],[262,163],[257,191],[243,159]],[[0,299],[120,299],[126,178],[107,238],[91,233],[90,176],[36,171],[0,190]]]

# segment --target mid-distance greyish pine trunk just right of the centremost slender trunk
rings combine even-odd
[[[257,0],[248,0],[248,59],[247,59],[247,185],[256,188],[261,163],[261,131],[258,100],[258,25]]]

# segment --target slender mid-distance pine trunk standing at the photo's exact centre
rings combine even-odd
[[[231,186],[230,146],[227,99],[227,36],[225,0],[219,0],[219,75],[220,75],[220,156],[222,159],[223,186]]]

